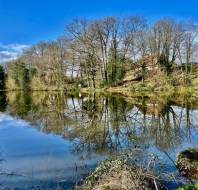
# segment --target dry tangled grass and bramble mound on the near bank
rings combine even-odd
[[[158,178],[142,168],[132,167],[123,160],[106,160],[85,180],[82,190],[151,190],[166,189]]]

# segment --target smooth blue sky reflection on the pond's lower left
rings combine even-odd
[[[75,176],[75,165],[81,168],[97,163],[97,159],[79,160],[71,154],[71,148],[71,143],[61,137],[43,134],[22,120],[0,114],[0,151],[4,159],[0,169],[25,176],[1,176],[0,183],[15,184],[17,180],[18,184],[22,181],[25,184],[30,179],[38,183],[57,177],[71,181]],[[80,173],[88,172],[87,169],[79,170]]]

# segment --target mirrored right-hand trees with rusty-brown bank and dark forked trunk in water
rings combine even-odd
[[[184,123],[184,108],[173,106],[167,100],[151,102],[147,99],[147,102],[145,100],[143,102],[144,104],[139,107],[144,115],[143,123],[146,129],[144,134],[150,140],[154,140],[158,148],[162,150],[175,148],[188,138],[187,128],[181,126]],[[185,110],[189,112],[189,107]],[[186,117],[186,121],[188,120],[189,115]]]

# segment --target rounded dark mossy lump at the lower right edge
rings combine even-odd
[[[198,149],[181,152],[177,157],[177,167],[184,176],[198,180]]]

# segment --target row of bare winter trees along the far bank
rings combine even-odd
[[[145,79],[145,57],[157,60],[166,75],[179,68],[186,76],[196,62],[197,37],[198,25],[187,21],[160,19],[150,24],[139,16],[74,19],[63,36],[33,45],[7,64],[7,87],[99,88],[121,83],[137,67]]]

